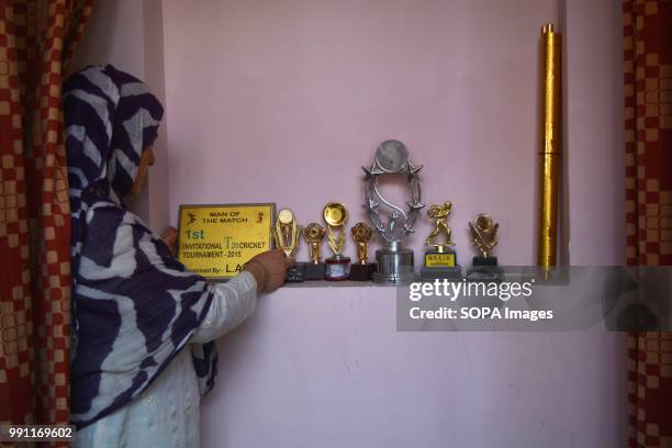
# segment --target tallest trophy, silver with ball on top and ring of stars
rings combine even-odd
[[[415,280],[413,250],[403,247],[403,239],[413,232],[413,224],[425,206],[421,202],[422,165],[414,166],[408,160],[408,150],[403,143],[389,139],[376,149],[376,159],[365,170],[365,208],[376,232],[383,238],[385,246],[376,251],[377,270],[372,280],[377,283],[406,284]],[[385,199],[379,180],[384,177],[403,175],[410,190],[405,210]]]

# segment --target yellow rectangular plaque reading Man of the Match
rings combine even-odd
[[[275,204],[180,205],[177,257],[209,280],[226,280],[271,248]]]

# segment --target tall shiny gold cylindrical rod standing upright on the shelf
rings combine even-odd
[[[560,165],[560,34],[541,27],[541,128],[539,141],[539,223],[537,265],[556,266]]]

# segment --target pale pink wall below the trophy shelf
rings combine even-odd
[[[605,333],[396,333],[391,288],[284,288],[220,343],[203,447],[625,447]]]

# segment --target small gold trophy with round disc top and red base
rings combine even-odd
[[[345,223],[348,221],[348,209],[340,202],[329,202],[323,211],[327,224],[327,237],[334,256],[325,260],[325,280],[347,280],[350,276],[350,258],[343,255],[346,242]]]

